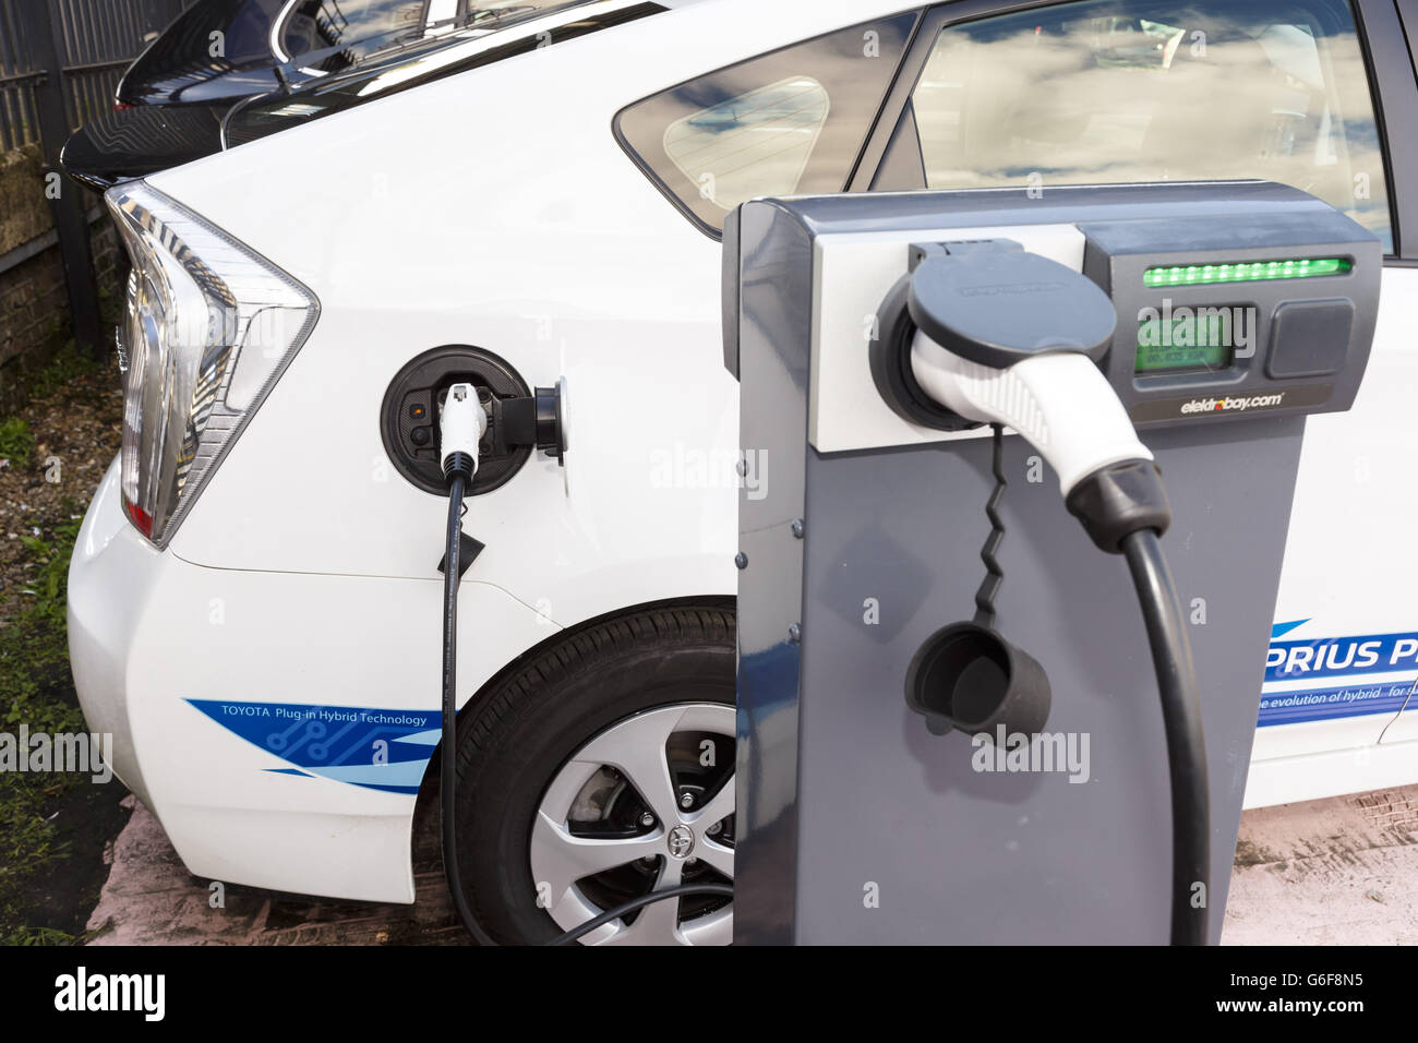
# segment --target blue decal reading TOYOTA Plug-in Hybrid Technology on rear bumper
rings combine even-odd
[[[294,768],[269,771],[319,775],[389,793],[417,793],[442,736],[437,710],[312,707],[302,702],[187,700],[227,731],[275,754]]]

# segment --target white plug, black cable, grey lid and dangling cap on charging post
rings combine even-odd
[[[1161,473],[1098,366],[1117,326],[1112,298],[1081,272],[1014,240],[917,243],[909,247],[908,264],[909,272],[882,302],[881,335],[868,352],[882,397],[925,427],[994,424],[997,464],[1000,426],[1018,431],[1058,473],[1064,502],[1093,545],[1127,559],[1167,735],[1171,942],[1204,945],[1211,824],[1201,705],[1181,605],[1159,543],[1171,524]],[[997,465],[991,508],[998,505],[1000,474]],[[1048,710],[1042,670],[988,626],[1000,579],[991,559],[1001,535],[994,514],[991,522],[995,531],[984,556],[990,575],[977,596],[986,626],[977,617],[976,624],[944,627],[922,646],[908,673],[906,702],[927,714],[927,722],[932,714],[947,722],[959,718],[960,705],[991,721],[1011,714],[1032,721]],[[981,660],[1007,664],[1007,681],[988,690],[971,670]],[[990,695],[993,702],[984,698]],[[993,715],[983,712],[983,702]]]

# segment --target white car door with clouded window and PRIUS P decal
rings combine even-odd
[[[1385,728],[1418,738],[1418,712],[1412,734],[1394,724],[1418,678],[1418,155],[1392,132],[1414,94],[1392,0],[966,0],[927,14],[851,184],[1045,199],[1068,183],[1265,177],[1384,241],[1364,387],[1306,427],[1249,805],[1418,779],[1418,758],[1375,756]],[[1224,605],[1207,624],[1225,626]]]

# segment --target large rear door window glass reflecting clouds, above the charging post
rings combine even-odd
[[[1088,0],[946,26],[910,115],[930,189],[1263,177],[1392,253],[1343,0]]]

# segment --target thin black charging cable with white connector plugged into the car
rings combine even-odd
[[[488,430],[488,412],[471,383],[448,389],[438,413],[442,431],[440,460],[448,487],[448,528],[444,546],[444,640],[442,640],[442,761],[438,779],[440,817],[442,819],[442,860],[448,890],[458,920],[478,945],[496,945],[496,939],[478,922],[462,890],[458,870],[458,587],[462,582],[462,511],[464,498],[478,474],[478,443]],[[651,891],[557,935],[547,945],[570,945],[614,920],[630,915],[651,903],[692,894],[733,897],[727,884],[681,884]]]

